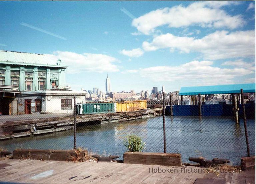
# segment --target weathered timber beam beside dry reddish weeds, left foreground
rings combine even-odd
[[[73,161],[76,158],[76,150],[41,150],[41,149],[15,149],[13,159],[33,159],[33,160],[55,160]],[[80,152],[79,157],[85,158],[87,150]]]

